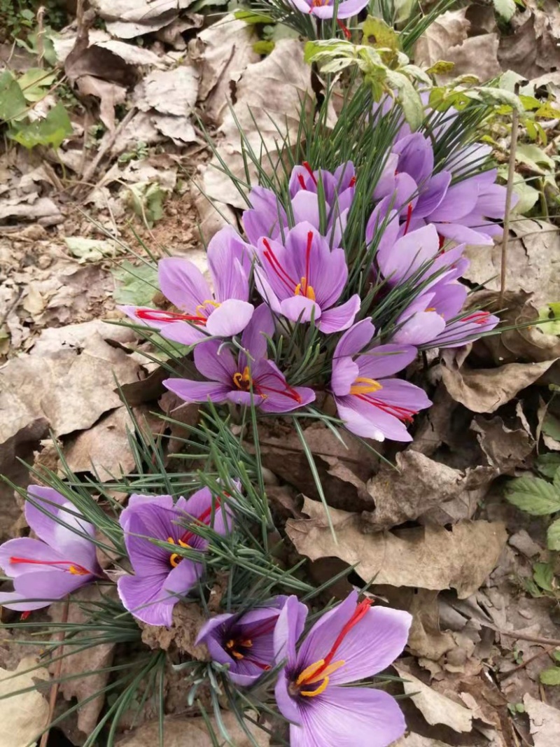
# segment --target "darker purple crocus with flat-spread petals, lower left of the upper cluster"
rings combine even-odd
[[[246,326],[241,344],[246,352],[236,358],[214,340],[194,350],[196,368],[209,381],[167,379],[164,385],[185,402],[226,401],[254,405],[263,412],[290,412],[315,399],[312,389],[290,386],[283,373],[267,360],[267,337],[274,332],[270,309],[261,304]]]

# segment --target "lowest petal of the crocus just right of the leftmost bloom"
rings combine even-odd
[[[116,588],[125,610],[149,625],[171,627],[175,603],[161,601],[169,596],[163,591],[165,580],[166,577],[161,576],[120,577]]]

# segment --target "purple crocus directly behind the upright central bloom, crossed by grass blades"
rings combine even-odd
[[[319,185],[322,185],[321,197]],[[293,223],[307,221],[320,230],[320,216],[325,215],[329,245],[339,247],[354,199],[354,185],[352,161],[341,164],[334,173],[323,169],[314,171],[306,161],[302,166],[294,167],[289,185]],[[243,226],[251,244],[256,246],[262,237],[281,240],[289,220],[276,192],[254,187],[249,202],[252,208],[243,213]]]

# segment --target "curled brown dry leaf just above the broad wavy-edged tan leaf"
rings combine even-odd
[[[457,498],[464,491],[479,487],[479,479],[457,469],[434,462],[418,451],[401,451],[396,467],[382,465],[379,473],[367,483],[367,492],[376,507],[364,519],[372,530],[390,529],[404,524]],[[488,480],[486,480],[488,483]]]

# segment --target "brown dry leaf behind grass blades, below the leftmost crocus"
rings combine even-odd
[[[103,596],[112,596],[117,598],[116,587],[104,587]],[[102,599],[101,592],[98,586],[84,586],[79,589],[78,592],[72,595],[75,603],[69,604],[68,607],[68,622],[74,622],[76,624],[83,624],[89,620],[87,613],[84,613],[80,609],[78,601],[84,603],[87,602],[99,602]],[[61,616],[63,615],[63,608],[65,602],[57,602],[49,607],[49,614],[55,622],[60,622]],[[81,636],[78,633],[77,638]],[[90,636],[87,631],[84,633],[84,637]],[[109,672],[98,672],[99,669],[111,666],[113,663],[115,644],[114,643],[99,643],[93,648],[87,648],[85,651],[79,651],[72,656],[65,657],[61,664],[60,678],[67,678],[70,675],[84,674],[80,678],[72,678],[60,683],[60,692],[66,700],[77,698],[78,703],[85,701],[90,698],[99,689],[105,687],[109,681]],[[52,665],[53,671],[57,669],[59,663]],[[58,670],[57,670],[58,671]],[[97,719],[99,713],[101,713],[103,704],[105,703],[105,693],[101,693],[96,698],[84,703],[78,711],[78,728],[83,731],[84,734],[91,734],[93,729],[97,725]]]

